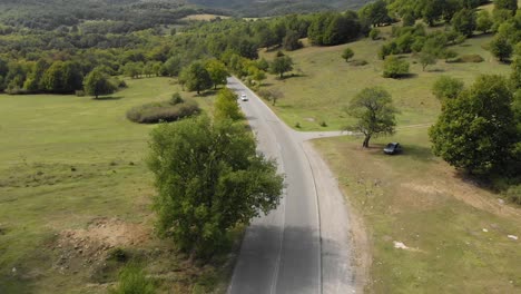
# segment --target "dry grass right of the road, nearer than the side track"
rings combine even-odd
[[[370,150],[361,138],[315,141],[365,224],[368,246],[360,249],[372,254],[367,291],[521,292],[521,248],[508,237],[521,236],[521,209],[500,205],[498,195],[431,155],[425,130],[400,130]],[[403,155],[382,153],[392,140],[403,144]]]

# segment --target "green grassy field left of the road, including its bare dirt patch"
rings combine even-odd
[[[127,84],[99,100],[0,96],[0,293],[105,293],[130,259],[165,292],[218,286],[219,266],[198,268],[155,237],[145,163],[154,126],[125,117],[178,86]],[[210,108],[212,96],[196,100]]]

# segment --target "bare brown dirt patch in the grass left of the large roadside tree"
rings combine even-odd
[[[96,218],[87,228],[66,229],[58,236],[53,267],[62,274],[106,266],[111,251],[139,245],[150,239],[150,232],[140,224],[118,218]]]

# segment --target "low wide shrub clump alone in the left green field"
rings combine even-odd
[[[171,105],[170,101],[151,102],[131,108],[127,111],[127,118],[139,124],[157,124],[176,121],[199,114],[199,106],[194,100],[176,105]]]

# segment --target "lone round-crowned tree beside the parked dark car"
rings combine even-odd
[[[357,119],[348,126],[348,130],[364,135],[364,148],[368,147],[371,138],[379,135],[391,135],[396,126],[396,108],[391,95],[383,88],[372,87],[363,89],[351,100],[347,114]]]

